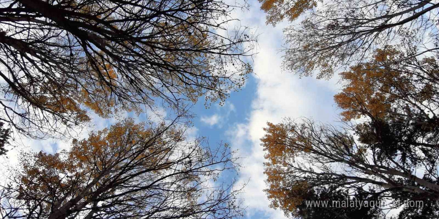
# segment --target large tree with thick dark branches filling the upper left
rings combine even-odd
[[[39,138],[90,109],[223,101],[251,71],[255,37],[220,0],[17,0],[0,8],[1,120]]]

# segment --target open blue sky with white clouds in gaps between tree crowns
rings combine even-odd
[[[258,32],[257,54],[250,60],[253,73],[242,91],[233,92],[223,106],[214,104],[206,109],[203,101],[193,107],[196,114],[191,135],[206,136],[211,145],[227,142],[237,156],[242,157],[238,184],[248,182],[242,198],[246,206],[246,219],[282,219],[280,210],[269,208],[263,190],[264,151],[260,138],[266,122],[277,123],[284,117],[312,117],[314,120],[333,123],[338,120],[333,95],[339,91],[337,79],[316,80],[302,78],[281,69],[283,45],[282,29],[288,23],[275,27],[265,24],[265,14],[257,0],[248,1],[249,11],[236,11],[233,16],[242,25]],[[102,129],[114,119],[95,119],[93,128]],[[83,137],[86,132],[83,132]],[[23,139],[32,150],[49,153],[68,148],[69,143],[55,139],[43,141]],[[19,150],[12,150],[9,157],[16,157]],[[9,162],[14,162],[9,161]]]

